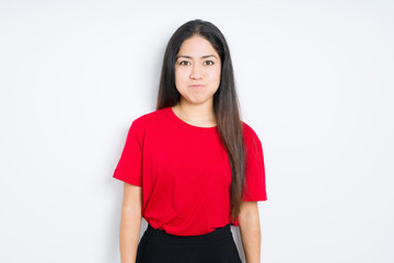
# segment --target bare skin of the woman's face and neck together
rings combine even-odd
[[[210,42],[195,35],[186,39],[175,61],[175,87],[181,93],[174,113],[184,122],[200,126],[217,125],[213,94],[219,89],[221,61]],[[193,87],[201,84],[201,87]]]

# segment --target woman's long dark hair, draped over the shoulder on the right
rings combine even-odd
[[[223,34],[216,25],[202,20],[193,20],[183,24],[172,35],[164,53],[157,110],[174,106],[181,100],[181,94],[175,87],[175,56],[183,42],[194,35],[209,41],[221,59],[221,80],[219,89],[213,94],[213,111],[220,139],[229,156],[232,176],[229,190],[230,216],[232,220],[235,220],[240,213],[243,190],[246,190],[246,158],[230,50]]]

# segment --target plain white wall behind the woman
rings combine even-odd
[[[394,262],[393,13],[389,0],[0,1],[0,262],[119,262],[112,175],[193,19],[225,35],[263,144],[262,262]]]

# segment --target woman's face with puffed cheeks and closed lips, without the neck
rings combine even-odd
[[[212,103],[220,84],[221,61],[210,42],[195,35],[186,39],[176,55],[175,87],[182,103]]]

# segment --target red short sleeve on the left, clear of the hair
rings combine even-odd
[[[136,186],[142,186],[142,147],[138,134],[138,125],[135,121],[128,130],[126,144],[113,178]]]

